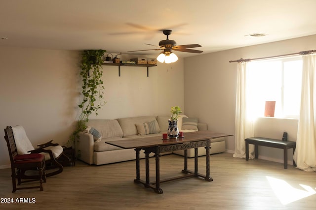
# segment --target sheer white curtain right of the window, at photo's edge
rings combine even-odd
[[[316,54],[303,55],[301,111],[296,150],[297,168],[316,171]]]

